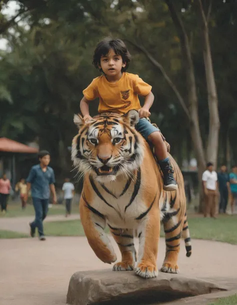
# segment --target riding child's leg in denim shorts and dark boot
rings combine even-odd
[[[177,183],[173,177],[173,169],[159,129],[146,119],[140,119],[135,128],[146,141],[150,141],[154,146],[155,156],[163,173],[163,189],[166,191],[176,190]]]

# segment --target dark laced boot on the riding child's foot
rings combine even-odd
[[[159,167],[163,173],[163,189],[165,191],[175,191],[177,190],[177,182],[173,177],[173,169],[169,162],[169,159],[165,161],[159,161]]]

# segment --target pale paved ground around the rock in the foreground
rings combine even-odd
[[[112,244],[120,258],[113,239]],[[135,245],[137,248],[137,240]],[[180,275],[237,282],[237,245],[192,240],[192,248],[192,255],[185,257],[181,242]],[[159,268],[164,251],[161,238]],[[111,267],[94,255],[85,237],[48,237],[45,242],[37,238],[0,239],[0,304],[65,305],[69,279],[75,271]]]

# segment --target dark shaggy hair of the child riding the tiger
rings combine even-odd
[[[93,61],[92,64],[95,68],[99,69],[100,66],[100,58],[106,56],[110,50],[113,50],[116,55],[120,55],[122,58],[122,62],[126,64],[124,68],[122,68],[122,72],[126,71],[129,66],[131,55],[128,52],[124,42],[120,39],[112,39],[110,37],[104,38],[101,42],[99,42],[94,50]],[[101,71],[101,69],[99,69]]]

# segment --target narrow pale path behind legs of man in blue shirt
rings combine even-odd
[[[20,233],[29,234],[29,222],[33,221],[34,216],[24,217],[12,217],[12,218],[0,218],[0,230],[15,231]],[[44,221],[65,221],[80,219],[79,214],[71,214],[69,217],[64,215],[50,215],[47,216]]]

